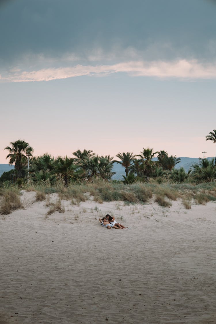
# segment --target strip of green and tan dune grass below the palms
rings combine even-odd
[[[60,200],[70,200],[72,204],[79,204],[87,199],[92,199],[97,203],[104,201],[149,203],[154,198],[159,205],[169,207],[171,201],[181,199],[185,208],[190,209],[193,202],[206,204],[208,201],[216,201],[216,182],[176,184],[168,181],[158,183],[151,180],[149,183],[124,184],[121,181],[108,182],[100,179],[82,184],[69,183],[68,187],[65,187],[62,180],[57,181],[53,186],[29,181],[28,184],[24,184],[22,189],[36,191],[37,201],[45,200],[47,194],[57,193]],[[6,185],[0,188],[0,195],[3,196],[1,213],[8,213],[13,209],[20,208],[19,190],[20,188],[16,185]],[[11,192],[10,195],[12,195],[12,192],[16,192],[16,194],[14,193],[13,198],[5,198],[4,195],[7,196],[8,192]]]

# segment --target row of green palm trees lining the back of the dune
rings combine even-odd
[[[216,130],[206,136],[206,140],[216,143]],[[11,180],[11,174],[15,173],[17,183],[27,179],[36,182],[54,184],[58,179],[63,179],[65,186],[69,182],[92,181],[94,179],[111,180],[115,172],[112,171],[113,163],[119,163],[125,168],[124,183],[135,181],[148,181],[150,178],[159,180],[171,179],[175,182],[183,182],[188,178],[196,181],[211,182],[216,179],[216,159],[200,159],[199,163],[191,166],[186,173],[184,168],[175,169],[180,158],[168,156],[165,150],[153,151],[153,148],[144,148],[139,155],[133,152],[118,153],[115,160],[113,156],[98,156],[92,150],[77,150],[73,157],[57,156],[54,158],[48,153],[41,156],[33,156],[33,148],[25,140],[11,142],[5,147],[9,164],[14,164],[14,170],[4,172],[0,182]],[[154,159],[157,157],[157,159]],[[29,174],[28,174],[29,173]]]

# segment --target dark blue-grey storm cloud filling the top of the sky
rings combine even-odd
[[[145,59],[209,59],[215,50],[216,11],[210,0],[2,3],[1,65],[15,64],[28,53],[58,58],[115,45],[144,51]]]

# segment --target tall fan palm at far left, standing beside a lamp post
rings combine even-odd
[[[9,154],[6,156],[6,159],[9,158],[9,164],[14,163],[14,167],[17,170],[18,178],[22,177],[22,169],[27,165],[28,157],[32,156],[33,148],[29,146],[27,142],[24,140],[17,140],[15,142],[11,142],[10,146],[4,148],[4,150],[8,150]]]

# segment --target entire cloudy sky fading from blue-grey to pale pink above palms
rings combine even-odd
[[[18,139],[54,156],[215,156],[216,1],[0,1],[0,163]]]

